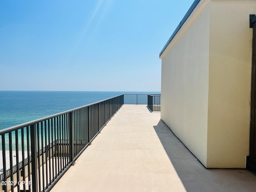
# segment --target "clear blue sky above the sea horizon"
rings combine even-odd
[[[2,0],[0,90],[160,91],[194,0]]]

